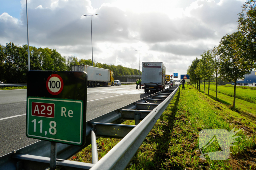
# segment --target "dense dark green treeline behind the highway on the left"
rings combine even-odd
[[[19,46],[14,43],[0,44],[0,81],[6,83],[27,82],[28,46]],[[30,70],[71,71],[71,65],[85,64],[92,66],[92,60],[80,59],[75,56],[61,56],[56,49],[36,48],[29,46]],[[102,64],[93,61],[94,67],[112,70],[114,79],[122,82],[127,78],[118,78],[119,75],[139,75],[139,70],[123,66]]]

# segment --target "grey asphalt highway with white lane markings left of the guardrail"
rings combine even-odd
[[[0,156],[38,141],[26,137],[26,95],[26,89],[0,90]],[[148,95],[136,85],[88,88],[86,120]]]

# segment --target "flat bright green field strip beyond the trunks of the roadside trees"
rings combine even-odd
[[[208,85],[205,87],[207,89],[205,93],[208,93]],[[204,85],[201,85],[201,88],[204,90]],[[210,85],[210,90],[216,92],[216,85]],[[218,86],[218,93],[222,93],[227,96],[234,97],[234,86],[233,87]],[[236,88],[236,98],[242,99],[244,101],[248,101],[250,103],[256,103],[256,91],[252,89]]]

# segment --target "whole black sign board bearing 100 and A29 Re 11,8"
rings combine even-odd
[[[87,74],[29,71],[26,135],[81,146],[86,133]]]

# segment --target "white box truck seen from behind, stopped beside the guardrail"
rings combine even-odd
[[[145,93],[165,89],[165,70],[163,62],[142,62],[141,86]]]

